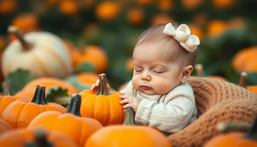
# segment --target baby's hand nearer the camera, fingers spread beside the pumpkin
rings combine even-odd
[[[137,113],[138,106],[139,106],[139,103],[141,102],[141,100],[139,100],[138,98],[134,97],[133,95],[131,95],[129,93],[121,92],[121,94],[122,95],[119,95],[119,97],[124,100],[119,101],[119,103],[121,103],[121,104],[128,103],[128,104],[124,105],[123,108],[126,109],[126,108],[130,107],[134,110],[135,113]]]

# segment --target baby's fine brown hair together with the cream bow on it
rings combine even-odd
[[[187,25],[171,22],[151,26],[138,37],[135,48],[155,41],[165,41],[169,44],[169,54],[175,62],[185,66],[194,65],[200,41],[197,36],[191,34]]]

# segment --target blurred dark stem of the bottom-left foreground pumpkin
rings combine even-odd
[[[53,147],[52,143],[46,140],[46,133],[44,130],[38,129],[35,131],[35,141],[26,144],[26,147]]]

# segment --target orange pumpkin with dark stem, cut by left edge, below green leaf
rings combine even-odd
[[[0,116],[2,115],[4,109],[12,102],[18,99],[25,99],[28,101],[32,99],[26,96],[14,96],[9,83],[4,82],[2,85],[3,85],[3,96],[0,96]]]

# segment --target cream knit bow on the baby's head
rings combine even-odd
[[[191,31],[185,24],[180,25],[177,30],[171,23],[166,24],[163,33],[171,35],[180,45],[189,52],[193,52],[200,44],[200,40],[195,35],[190,35]]]

